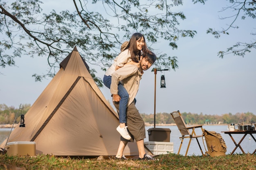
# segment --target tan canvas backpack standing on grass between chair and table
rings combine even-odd
[[[216,133],[214,131],[207,131],[204,129],[203,134],[208,148],[208,151],[206,151],[205,154],[208,154],[211,157],[226,155],[227,146],[220,133]]]

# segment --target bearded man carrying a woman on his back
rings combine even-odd
[[[144,70],[148,70],[155,62],[156,55],[153,52],[148,51],[147,56],[141,56],[139,63],[133,61],[119,68],[112,74],[112,80],[110,85],[110,92],[113,95],[114,105],[119,109],[118,103],[120,97],[118,94],[118,83],[121,81],[124,84],[124,88],[129,94],[128,107],[127,107],[127,126],[132,137],[137,142],[139,150],[139,160],[156,160],[155,158],[147,155],[144,148],[144,138],[146,138],[144,120],[141,118],[139,111],[135,107],[135,96],[139,89],[139,81],[141,79]],[[114,97],[115,96],[115,97]],[[119,112],[119,111],[118,111]],[[128,140],[121,137],[119,148],[117,150],[117,159],[126,159],[123,155],[125,146],[128,144]]]

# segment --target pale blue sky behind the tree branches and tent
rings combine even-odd
[[[45,0],[47,9],[58,9],[58,4]],[[69,1],[72,3],[72,1]],[[219,17],[231,16],[230,11],[218,12],[225,7],[226,1],[210,0],[206,4],[184,2],[175,10],[183,11],[186,20],[180,21],[181,29],[196,30],[194,38],[180,38],[178,49],[172,50],[166,42],[159,41],[151,47],[155,53],[167,53],[177,56],[179,68],[174,71],[157,72],[156,104],[154,103],[155,74],[151,68],[142,76],[139,92],[136,96],[140,113],[202,113],[222,115],[225,113],[256,114],[256,50],[247,53],[244,58],[229,54],[223,59],[218,51],[226,50],[236,42],[255,41],[256,23],[252,19],[238,20],[238,29],[231,29],[230,35],[221,35],[215,39],[206,34],[207,28],[220,30],[226,28],[230,20]],[[71,6],[68,3],[63,3]],[[32,74],[44,74],[49,69],[43,57],[23,56],[16,59],[18,67],[0,68],[0,104],[18,108],[20,104],[33,104],[50,78],[35,82]],[[93,67],[93,66],[91,66]],[[103,78],[104,72],[96,68],[97,76]],[[166,88],[160,88],[160,78],[164,74]],[[111,101],[110,90],[100,88],[107,100]]]

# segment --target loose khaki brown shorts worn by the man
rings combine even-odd
[[[117,109],[117,112],[119,112],[119,103],[117,102],[113,102],[113,103]],[[146,138],[145,123],[144,123],[144,120],[141,118],[139,111],[135,107],[134,102],[132,102],[127,107],[127,126],[132,139],[139,141],[141,139]],[[121,137],[122,141],[133,142],[132,139],[129,141]]]

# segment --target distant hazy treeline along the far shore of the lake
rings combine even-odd
[[[16,114],[19,114],[16,118],[15,123],[20,122],[20,114],[26,114],[29,108],[31,107],[30,104],[22,105],[20,109],[15,108],[13,106],[8,107],[5,104],[0,104],[0,124],[13,124]],[[231,113],[226,113],[222,115],[204,115],[202,113],[181,113],[184,121],[186,124],[230,124],[230,123],[243,123],[243,124],[250,124],[250,122],[256,122],[256,115],[251,112],[247,113],[236,113],[232,115]],[[154,124],[154,114],[146,114],[142,113],[141,117],[143,118],[144,122],[148,122],[149,124]],[[173,118],[171,117],[170,113],[156,113],[155,116],[155,123],[156,124],[171,124],[175,123]],[[254,123],[255,124],[255,123]]]

